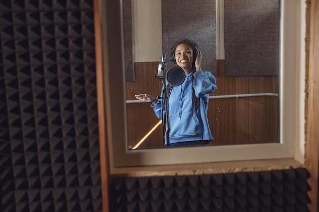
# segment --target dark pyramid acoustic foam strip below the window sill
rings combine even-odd
[[[308,211],[304,168],[116,178],[112,211]]]

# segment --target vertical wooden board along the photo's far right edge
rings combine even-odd
[[[311,212],[318,211],[319,175],[319,0],[307,1],[306,58],[309,58],[306,75],[306,166],[311,175],[308,192]],[[307,64],[307,63],[306,63]]]

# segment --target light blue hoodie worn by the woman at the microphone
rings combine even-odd
[[[217,89],[216,79],[208,71],[196,71],[194,77],[195,95],[200,99],[197,116],[192,111],[192,73],[186,76],[183,84],[174,87],[169,96],[170,144],[184,141],[213,140],[207,118],[207,109],[209,94]],[[157,104],[152,104],[156,116],[160,119],[162,119],[164,110],[163,102],[162,99],[159,99]]]

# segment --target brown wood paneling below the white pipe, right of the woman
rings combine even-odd
[[[214,144],[278,141],[278,97],[212,99],[208,120]]]

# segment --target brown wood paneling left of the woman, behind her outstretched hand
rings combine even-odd
[[[126,100],[136,100],[135,94],[161,94],[161,80],[155,78],[158,62],[135,63],[135,81],[126,82]],[[130,103],[127,108],[128,146],[134,147],[159,121],[151,103]],[[139,148],[163,147],[163,128],[159,125]]]

